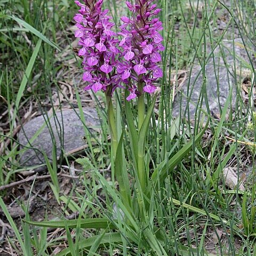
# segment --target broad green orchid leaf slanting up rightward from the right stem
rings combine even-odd
[[[195,139],[190,140],[167,163],[166,161],[163,161],[156,167],[156,169],[154,170],[151,176],[154,183],[157,182],[158,175],[159,175],[159,178],[161,179],[161,182],[163,182],[167,176],[167,170],[173,170],[173,168],[181,161],[181,159],[184,158],[190,152],[193,144],[201,140],[201,138],[203,137],[208,127],[208,123],[209,123],[209,120],[206,122],[204,129],[195,136]]]

